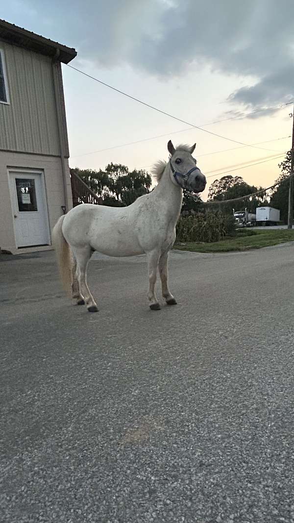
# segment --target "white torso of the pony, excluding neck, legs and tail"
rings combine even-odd
[[[73,249],[90,246],[109,256],[166,251],[174,241],[168,209],[152,193],[128,207],[81,204],[66,214],[62,232]]]

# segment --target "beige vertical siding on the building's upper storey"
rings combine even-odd
[[[1,40],[0,49],[10,100],[0,104],[0,150],[59,156],[51,59]]]

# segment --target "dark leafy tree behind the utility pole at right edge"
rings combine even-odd
[[[291,172],[291,151],[288,151],[285,160],[279,164],[281,174],[277,178],[277,187],[273,189],[272,197],[270,198],[270,206],[280,210],[281,221],[288,220],[288,197],[289,197],[289,175]],[[292,204],[294,203],[294,198]]]

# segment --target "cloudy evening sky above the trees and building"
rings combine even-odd
[[[77,69],[233,140],[63,65],[71,167],[148,170],[171,138],[197,143],[204,199],[222,173],[263,187],[278,177],[291,147],[292,0],[10,0],[0,16],[74,47]]]

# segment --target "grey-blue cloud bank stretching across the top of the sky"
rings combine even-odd
[[[44,0],[26,4],[48,11]],[[247,79],[229,97],[247,110],[294,97],[293,0],[51,0],[50,11],[51,38],[99,66],[128,63],[164,78],[209,65]]]

